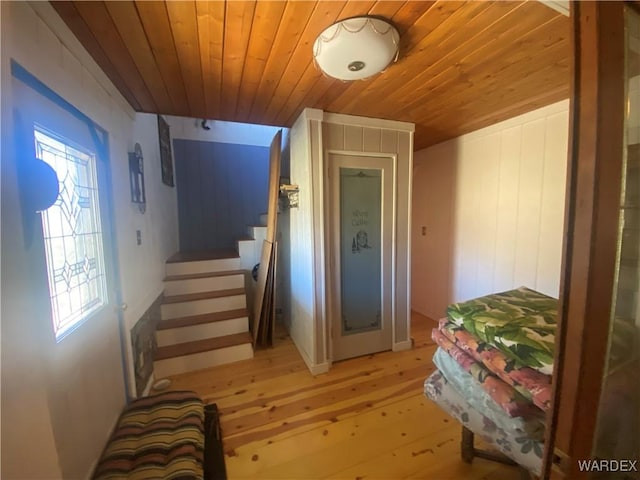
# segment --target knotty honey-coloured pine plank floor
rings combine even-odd
[[[434,325],[414,313],[412,350],[315,377],[280,329],[254,359],[172,377],[172,388],[217,403],[229,479],[519,478],[514,467],[464,464],[460,424],[422,393]]]

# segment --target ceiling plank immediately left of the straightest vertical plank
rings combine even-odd
[[[167,14],[192,117],[206,118],[200,40],[195,2],[166,2]],[[169,48],[169,47],[165,47]]]

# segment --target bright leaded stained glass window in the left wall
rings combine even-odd
[[[56,339],[107,304],[96,156],[45,130],[34,131],[36,156],[58,175],[56,202],[42,212]]]

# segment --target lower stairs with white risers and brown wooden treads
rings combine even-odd
[[[178,253],[167,261],[156,378],[253,357],[247,275],[234,250]]]

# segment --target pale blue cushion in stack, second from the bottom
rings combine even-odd
[[[505,432],[513,435],[528,436],[534,440],[544,439],[545,417],[542,412],[529,417],[509,417],[500,405],[484,390],[479,388],[475,378],[465,372],[447,352],[438,348],[433,356],[433,363],[449,384],[459,393],[471,407],[489,418]]]

